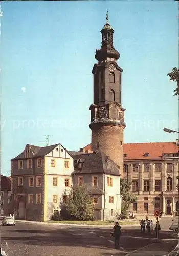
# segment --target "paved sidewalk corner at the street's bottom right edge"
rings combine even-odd
[[[141,249],[126,254],[126,256],[167,256],[176,246],[176,243],[161,242],[153,243]]]

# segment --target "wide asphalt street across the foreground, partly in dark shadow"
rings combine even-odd
[[[171,218],[163,218],[160,224],[159,243],[147,233],[142,235],[140,226],[122,226],[121,249],[115,250],[110,236],[114,224],[110,227],[79,227],[17,221],[15,226],[1,226],[2,249],[7,256],[118,256],[131,253],[133,256],[162,256],[174,249],[177,234],[168,229]]]

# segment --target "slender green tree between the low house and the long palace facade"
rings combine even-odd
[[[126,179],[121,179],[121,195],[122,195],[122,204],[121,204],[121,217],[127,218],[127,211],[129,209],[130,203],[135,203],[137,197],[133,196],[130,193],[131,182],[128,182]]]

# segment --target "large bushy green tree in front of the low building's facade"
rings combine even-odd
[[[64,207],[70,216],[76,220],[94,220],[93,199],[84,186],[71,187]]]

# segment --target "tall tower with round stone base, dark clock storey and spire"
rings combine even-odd
[[[94,103],[90,106],[92,150],[104,152],[120,167],[123,176],[124,111],[121,106],[122,69],[118,66],[119,52],[113,46],[114,30],[106,24],[101,30],[102,45],[96,50],[94,76]]]

